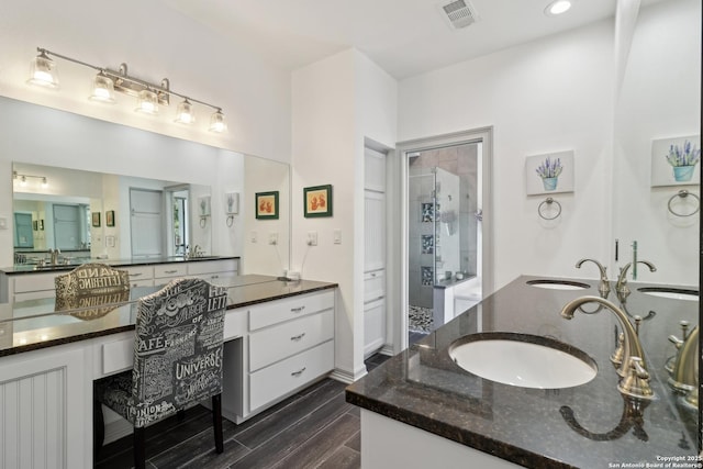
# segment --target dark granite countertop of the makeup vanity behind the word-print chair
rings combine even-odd
[[[228,279],[226,284],[227,309],[333,289],[336,286],[311,280],[287,282],[269,276],[238,276]],[[132,288],[129,299],[60,312],[55,311],[53,297],[2,303],[0,357],[134,330],[138,299],[161,287]]]

